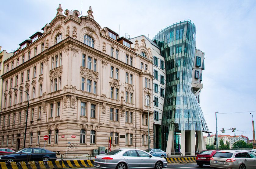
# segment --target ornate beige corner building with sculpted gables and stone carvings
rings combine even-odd
[[[131,48],[129,40],[101,28],[91,7],[87,16],[62,11],[59,5],[43,33],[20,43],[3,62],[0,147],[23,147],[28,104],[23,90],[30,97],[26,147],[43,147],[48,135],[48,150],[91,152],[107,148],[111,136],[112,149],[146,149],[148,125],[153,138],[153,109],[150,105],[148,117],[146,106],[153,101],[151,50],[143,40]],[[141,63],[148,69],[140,69]]]

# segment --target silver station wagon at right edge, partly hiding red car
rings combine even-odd
[[[210,159],[213,168],[255,169],[256,156],[246,150],[225,150]]]

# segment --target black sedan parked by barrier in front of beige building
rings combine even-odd
[[[56,153],[43,148],[23,148],[14,153],[1,155],[0,161],[55,161]]]

